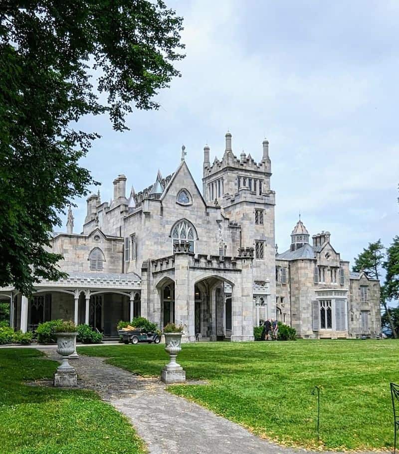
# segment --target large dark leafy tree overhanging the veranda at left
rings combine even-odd
[[[158,109],[182,21],[162,0],[1,2],[0,286],[64,276],[49,232],[95,184],[79,159],[100,137],[76,122],[107,114],[123,131],[134,107]]]

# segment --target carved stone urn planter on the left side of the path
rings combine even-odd
[[[57,353],[62,357],[62,363],[54,374],[54,386],[70,387],[77,385],[75,369],[69,364],[68,359],[75,351],[77,332],[57,332]]]

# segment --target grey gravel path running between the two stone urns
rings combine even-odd
[[[59,360],[55,348],[43,352]],[[78,373],[78,386],[97,391],[125,414],[147,443],[150,454],[311,453],[262,440],[241,426],[168,393],[158,378],[140,377],[98,357],[81,355],[71,364]]]

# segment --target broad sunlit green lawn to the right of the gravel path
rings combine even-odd
[[[83,347],[110,364],[159,375],[162,345]],[[184,344],[178,362],[189,379],[208,385],[174,385],[171,393],[200,403],[260,437],[282,445],[331,450],[389,449],[393,418],[389,383],[399,382],[395,340],[298,340]],[[321,386],[320,441],[316,434]]]

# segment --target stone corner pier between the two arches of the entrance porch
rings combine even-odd
[[[184,341],[195,342],[194,285],[190,288],[190,262],[194,255],[183,245],[175,251],[175,322],[185,325]]]

